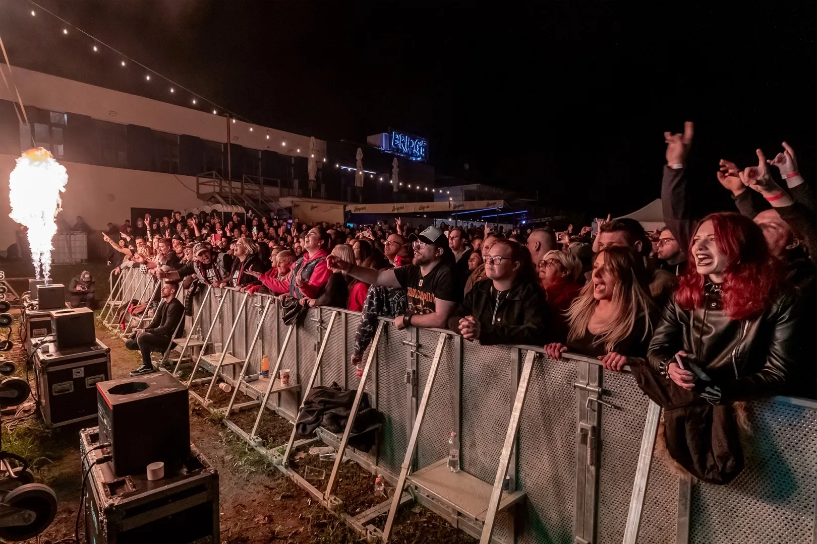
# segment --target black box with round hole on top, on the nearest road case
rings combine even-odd
[[[100,441],[117,476],[145,474],[151,462],[175,466],[190,455],[187,387],[165,372],[96,384]]]

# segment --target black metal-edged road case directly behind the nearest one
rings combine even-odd
[[[47,352],[43,351],[47,349]],[[96,422],[96,383],[110,379],[110,349],[96,346],[56,351],[44,343],[34,352],[34,378],[42,418],[49,427]]]

